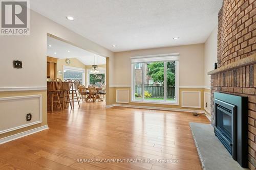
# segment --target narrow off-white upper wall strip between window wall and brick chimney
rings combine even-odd
[[[217,37],[218,26],[214,28],[204,44],[204,86],[210,87],[210,76],[208,71],[214,69],[214,63],[217,62]]]

